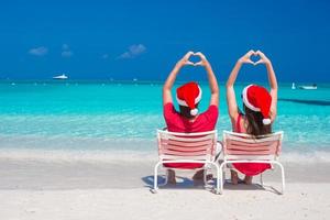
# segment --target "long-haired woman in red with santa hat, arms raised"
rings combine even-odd
[[[260,56],[260,61],[253,63],[251,56]],[[243,114],[237,103],[233,85],[243,64],[265,64],[267,68],[271,91],[264,87],[250,85],[243,89]],[[232,69],[227,81],[228,112],[231,119],[232,129],[238,133],[248,133],[254,136],[272,133],[272,123],[277,111],[277,80],[271,61],[261,52],[250,51],[241,57]],[[233,164],[231,169],[232,184],[239,182],[238,172],[245,174],[244,183],[251,184],[252,177],[271,168],[270,164],[242,163]]]

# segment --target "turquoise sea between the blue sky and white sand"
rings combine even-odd
[[[246,85],[237,86],[238,100]],[[204,111],[209,89],[201,88]],[[219,139],[231,129],[223,84],[220,92]],[[330,152],[330,85],[293,90],[279,84],[278,98],[274,130],[285,132],[284,151]],[[1,150],[156,151],[155,131],[164,124],[160,82],[0,82]]]

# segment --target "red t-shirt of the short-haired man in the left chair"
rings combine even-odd
[[[167,124],[167,130],[170,132],[194,133],[212,131],[216,128],[218,114],[218,107],[212,105],[206,112],[199,114],[194,122],[190,122],[187,118],[183,117],[175,110],[172,102],[168,102],[164,106],[164,119]],[[170,163],[166,164],[165,166],[193,169],[202,167],[202,164]]]

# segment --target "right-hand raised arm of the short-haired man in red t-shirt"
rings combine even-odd
[[[211,90],[211,99],[210,99],[210,106],[219,106],[219,86],[217,81],[217,77],[212,70],[211,64],[207,61],[205,55],[200,52],[196,53],[195,55],[200,57],[200,62],[196,63],[195,66],[204,66],[206,68],[206,72],[208,74],[209,79],[209,86]]]

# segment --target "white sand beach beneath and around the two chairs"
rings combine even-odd
[[[45,157],[46,158],[46,157]],[[284,163],[287,187],[279,173],[258,185],[226,184],[215,195],[179,173],[178,187],[150,191],[154,160],[42,160],[0,156],[1,219],[328,219],[329,163]],[[258,178],[255,178],[257,183]],[[184,185],[184,186],[180,186]]]

